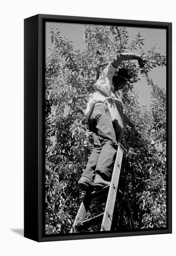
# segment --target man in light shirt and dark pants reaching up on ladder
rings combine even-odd
[[[110,184],[117,142],[124,134],[126,123],[133,126],[123,114],[122,102],[114,94],[130,80],[128,70],[119,68],[121,61],[129,60],[138,60],[139,66],[143,67],[144,62],[139,54],[118,54],[104,68],[94,85],[95,93],[90,95],[85,118],[93,132],[94,149],[78,181],[83,191],[102,189]]]

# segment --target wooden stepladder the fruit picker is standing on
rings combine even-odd
[[[73,222],[70,233],[76,233],[78,226],[82,226],[85,228],[85,227],[89,227],[90,225],[98,224],[99,222],[101,222],[100,231],[111,230],[111,223],[112,223],[114,205],[117,197],[117,191],[122,193],[122,191],[118,189],[118,182],[119,182],[122,158],[124,153],[126,153],[126,149],[119,143],[110,185],[104,187],[103,189],[93,191],[91,194],[85,194],[84,199],[81,202],[81,205],[79,207],[75,221]],[[126,193],[124,193],[123,195],[124,195],[127,211],[129,214],[130,228],[135,229],[129,200],[127,198]],[[105,196],[107,196],[107,200],[106,200],[106,206],[105,206],[104,212],[90,219],[85,220],[87,211],[90,207],[90,203],[93,201],[99,200],[100,198],[103,198]]]

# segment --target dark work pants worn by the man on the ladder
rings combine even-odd
[[[117,140],[111,115],[104,103],[98,102],[95,105],[89,125],[93,131],[94,149],[82,175],[94,180],[95,173],[98,173],[109,181],[117,152]]]

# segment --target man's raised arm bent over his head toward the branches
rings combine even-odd
[[[141,55],[139,54],[133,54],[133,53],[121,53],[118,54],[118,56],[116,56],[114,58],[114,60],[111,62],[113,67],[118,67],[121,63],[121,61],[130,61],[130,60],[138,60],[139,66],[143,67],[143,59],[141,57]]]

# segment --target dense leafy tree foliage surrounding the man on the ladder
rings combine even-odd
[[[137,47],[146,60],[145,67],[123,62],[132,78],[118,93],[124,112],[136,127],[127,128],[121,141],[128,154],[120,183],[129,195],[137,228],[165,227],[166,93],[153,84],[149,74],[152,68],[166,65],[166,56],[156,47],[144,53],[142,35],[138,33],[129,42],[126,27],[85,25],[84,32],[82,52],[73,50],[72,41],[65,39],[59,28],[50,32],[52,49],[46,59],[46,234],[68,233],[83,197],[78,179],[93,148],[84,109],[93,84],[115,54]],[[139,72],[152,88],[149,109],[139,107],[134,90]],[[124,206],[118,200],[116,204],[113,229],[127,229]]]

